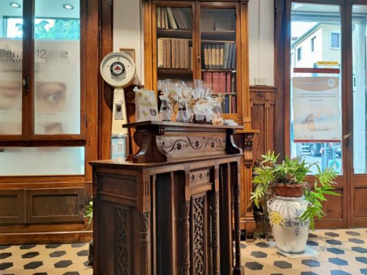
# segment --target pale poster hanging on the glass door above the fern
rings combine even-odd
[[[294,142],[340,142],[338,77],[293,78]]]

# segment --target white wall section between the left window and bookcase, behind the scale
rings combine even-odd
[[[120,48],[135,49],[134,84],[138,84],[139,80],[140,84],[144,84],[144,25],[140,22],[140,11],[142,14],[139,0],[114,0],[114,52]]]

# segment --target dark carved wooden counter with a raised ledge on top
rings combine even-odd
[[[91,163],[94,274],[244,274],[233,127],[127,126],[140,146],[132,161]]]

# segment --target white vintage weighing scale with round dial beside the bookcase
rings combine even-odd
[[[130,56],[122,52],[107,54],[101,62],[101,75],[105,82],[114,87],[112,108],[111,158],[125,159],[128,150],[128,129],[124,88],[128,87],[135,76],[135,64]]]

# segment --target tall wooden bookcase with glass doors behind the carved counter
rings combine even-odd
[[[248,0],[144,1],[145,87],[158,91],[166,78],[203,80],[223,96],[224,118],[244,126],[235,142],[242,158],[241,230],[255,230],[252,191],[251,108],[249,96]]]

